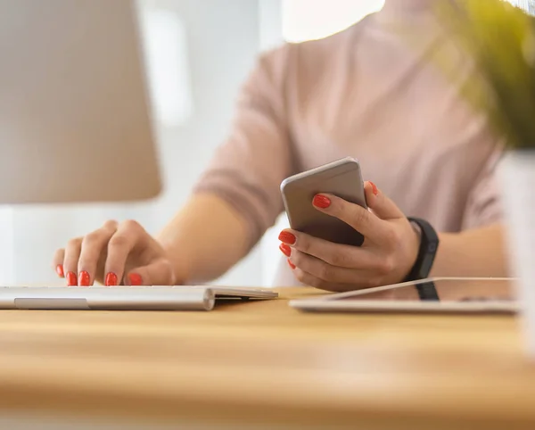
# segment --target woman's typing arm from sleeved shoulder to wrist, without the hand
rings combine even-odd
[[[222,276],[283,211],[279,186],[293,172],[284,106],[288,49],[260,57],[238,97],[230,136],[159,236],[178,282]]]

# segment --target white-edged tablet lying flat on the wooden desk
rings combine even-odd
[[[298,310],[317,312],[515,313],[513,278],[432,277],[313,299],[293,300]]]

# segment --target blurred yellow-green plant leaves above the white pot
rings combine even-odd
[[[484,110],[506,145],[535,149],[535,19],[503,0],[449,0],[454,34],[478,73],[463,94]]]

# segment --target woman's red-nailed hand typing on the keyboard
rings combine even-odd
[[[107,221],[55,252],[53,269],[67,285],[175,285],[165,250],[136,221]]]

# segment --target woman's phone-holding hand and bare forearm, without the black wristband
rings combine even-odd
[[[402,282],[414,266],[420,240],[399,207],[366,182],[371,211],[323,194],[318,211],[341,219],[365,236],[362,246],[333,244],[292,229],[280,236],[281,251],[295,276],[306,285],[348,291]],[[315,200],[312,201],[313,204]],[[506,277],[502,227],[475,227],[440,235],[432,276]]]

